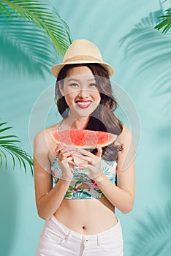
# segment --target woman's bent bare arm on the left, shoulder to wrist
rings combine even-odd
[[[70,182],[59,180],[53,187],[50,173],[49,148],[45,130],[34,138],[34,186],[37,212],[42,219],[49,219],[58,209]]]

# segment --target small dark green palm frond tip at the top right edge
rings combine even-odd
[[[171,29],[171,9],[166,10],[166,14],[159,16],[159,18],[160,23],[154,29],[163,29],[162,33],[167,33]]]

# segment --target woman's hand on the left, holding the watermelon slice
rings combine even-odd
[[[58,165],[61,167],[61,179],[65,181],[72,181],[75,172],[75,162],[72,153],[75,152],[74,147],[65,148],[61,144],[56,147],[56,154],[58,155]]]

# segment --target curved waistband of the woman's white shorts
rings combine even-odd
[[[64,233],[66,236],[71,236],[73,239],[83,240],[88,239],[88,241],[97,241],[98,239],[106,238],[106,236],[113,236],[115,233],[121,232],[121,222],[117,218],[118,222],[115,226],[111,227],[108,230],[104,230],[100,233],[86,235],[75,232],[74,230],[70,230],[69,227],[66,227],[64,224],[58,221],[54,215],[47,220],[50,222],[49,224],[53,226],[54,230],[60,230],[60,232]]]

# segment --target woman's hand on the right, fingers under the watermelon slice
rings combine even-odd
[[[101,171],[102,148],[101,146],[97,145],[96,149],[97,149],[96,155],[82,148],[77,149],[77,152],[80,153],[79,159],[83,160],[83,163],[80,163],[79,166],[88,168],[90,170],[91,179],[94,179],[102,175],[102,171]]]

